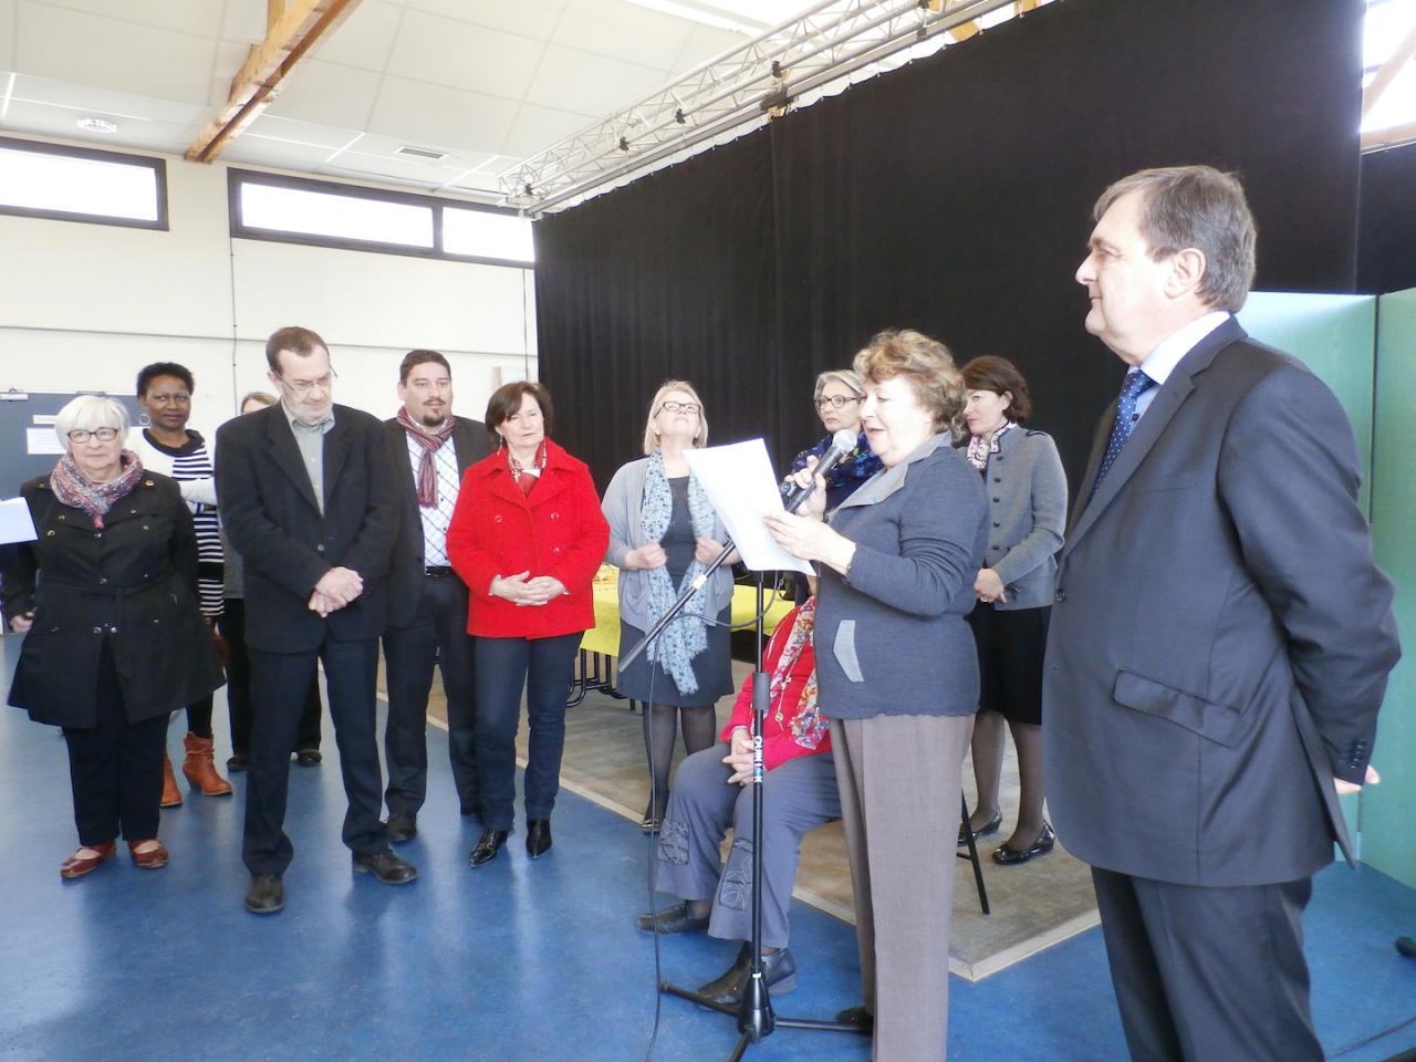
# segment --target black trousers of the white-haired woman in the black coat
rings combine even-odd
[[[108,844],[119,834],[129,841],[157,837],[170,714],[127,721],[108,639],[99,657],[96,698],[95,726],[64,728],[79,844]]]

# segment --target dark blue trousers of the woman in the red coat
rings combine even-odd
[[[548,639],[477,639],[477,770],[481,820],[489,830],[510,830],[515,813],[523,687],[531,728],[525,816],[551,817],[561,789],[565,698],[579,646],[581,632]]]

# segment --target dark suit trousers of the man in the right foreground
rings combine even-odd
[[[1092,868],[1133,1062],[1321,1062],[1308,1008],[1308,878],[1232,888]]]

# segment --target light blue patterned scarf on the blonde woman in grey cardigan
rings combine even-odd
[[[668,521],[674,513],[674,493],[668,486],[668,476],[664,474],[664,457],[658,450],[654,450],[649,457],[643,506],[640,525],[644,528],[644,538],[657,542],[668,531]],[[712,535],[716,517],[708,501],[708,494],[695,476],[688,477],[688,515],[692,520],[694,538]],[[705,568],[705,564],[694,558],[677,589],[668,576],[667,566],[653,568],[647,572],[650,626],[654,626],[673,607],[684,586],[691,585]],[[649,646],[650,663],[658,661],[673,677],[674,685],[681,694],[698,692],[692,660],[708,649],[708,624],[702,619],[704,586],[694,590],[678,617],[664,627],[663,633]]]

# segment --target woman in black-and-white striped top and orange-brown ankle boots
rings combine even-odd
[[[191,419],[191,395],[195,381],[185,365],[157,361],[137,374],[137,404],[147,415],[147,426],[133,432],[133,453],[149,472],[160,472],[177,481],[191,521],[197,528],[197,590],[201,615],[208,629],[221,619],[225,600],[225,554],[221,548],[221,524],[217,521],[217,480],[211,450],[200,432],[187,428]],[[217,773],[212,760],[211,695],[187,705],[187,736],[183,738],[181,773],[202,796],[229,796],[231,783]],[[163,807],[181,803],[181,790],[173,777],[171,760],[163,753]]]

